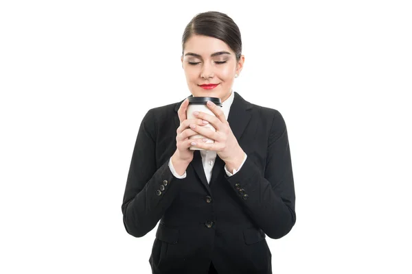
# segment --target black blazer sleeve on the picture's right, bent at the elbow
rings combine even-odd
[[[251,219],[270,238],[282,238],[296,222],[295,187],[286,123],[275,110],[268,137],[264,174],[250,157],[242,169],[225,176]]]

